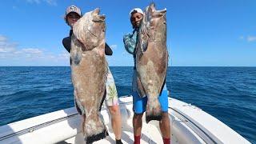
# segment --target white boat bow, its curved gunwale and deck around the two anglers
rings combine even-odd
[[[169,98],[171,143],[250,143],[230,127],[196,106]],[[133,143],[132,98],[120,98],[122,142]],[[105,106],[102,117],[110,136],[94,143],[115,143],[110,117]],[[157,121],[142,118],[141,143],[162,143]],[[81,134],[81,116],[74,107],[0,126],[0,144],[8,143],[85,143]]]

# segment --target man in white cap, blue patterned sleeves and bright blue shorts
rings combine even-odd
[[[134,56],[134,74],[132,83],[132,95],[133,95],[133,126],[134,126],[134,144],[140,143],[142,134],[142,116],[146,111],[146,96],[139,96],[137,86],[137,72],[136,72],[136,45],[138,42],[138,30],[142,23],[143,11],[140,8],[134,8],[130,11],[130,22],[133,26],[133,32],[126,34],[123,37],[123,42],[126,51]],[[158,100],[162,109],[162,120],[159,122],[160,130],[162,133],[162,140],[164,144],[170,144],[170,119],[168,116],[168,90],[166,84],[163,87],[162,93],[159,95]]]

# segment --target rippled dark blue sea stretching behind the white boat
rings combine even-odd
[[[118,95],[133,67],[110,67]],[[256,143],[256,67],[169,67],[171,97],[200,107]],[[0,126],[74,106],[69,66],[0,67]]]

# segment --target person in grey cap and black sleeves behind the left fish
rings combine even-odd
[[[73,26],[74,23],[78,21],[79,18],[82,17],[82,12],[77,6],[68,6],[66,8],[66,14],[65,14],[65,21],[70,26],[70,36],[63,38],[62,44],[65,47],[65,49],[70,53],[70,47],[71,47],[71,35],[73,34]],[[106,55],[112,55],[112,50],[110,49],[110,46],[107,44],[105,45],[105,54]],[[114,84],[114,78],[110,72],[110,68],[108,68],[108,75],[107,75],[107,81],[106,81],[106,95],[104,95],[104,98],[102,99],[102,103],[105,100],[106,106],[108,107],[111,115],[111,125],[112,129],[114,131],[115,139],[117,144],[122,144],[121,141],[121,114],[119,110],[119,103],[118,103],[118,93],[116,86]],[[77,102],[75,102],[76,108],[78,110],[78,113],[82,115],[81,110],[78,108]]]

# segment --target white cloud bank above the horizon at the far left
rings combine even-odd
[[[52,54],[50,51],[40,48],[18,48],[15,42],[0,35],[0,63],[8,66],[68,66],[69,54],[62,50],[60,54]]]

